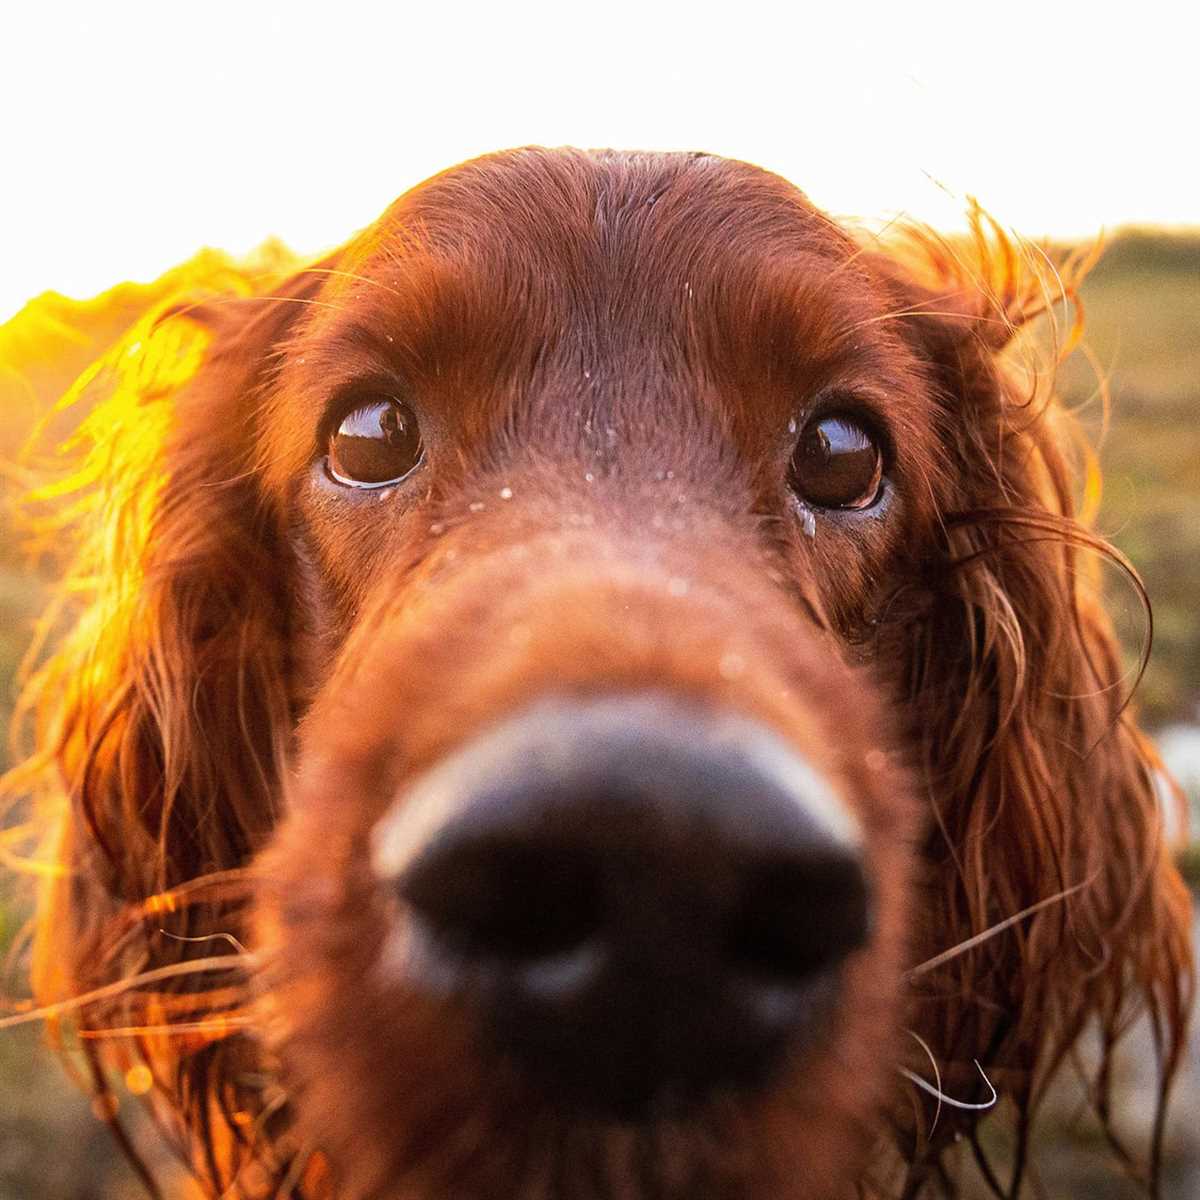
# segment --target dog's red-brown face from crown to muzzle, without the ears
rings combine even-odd
[[[844,660],[942,472],[857,257],[740,164],[517,155],[322,281],[262,420],[312,619],[265,953],[352,1194],[857,1170],[912,803]]]

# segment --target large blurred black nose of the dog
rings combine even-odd
[[[618,1117],[757,1086],[870,931],[858,827],[794,749],[659,696],[544,702],[374,832],[410,983],[540,1085]]]

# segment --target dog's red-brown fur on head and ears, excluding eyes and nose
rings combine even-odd
[[[287,280],[150,314],[85,380],[54,498],[77,623],[17,776],[64,869],[36,989],[131,980],[64,1012],[98,1090],[149,1066],[209,1194],[953,1194],[979,1112],[935,1123],[907,1031],[947,1094],[986,1098],[978,1060],[1010,1102],[1018,1182],[1086,1027],[1147,1010],[1170,1079],[1189,908],[1093,586],[1112,552],[1074,517],[1045,380],[1004,356],[1054,272],[985,234],[884,246],[744,164],[514,151]],[[364,373],[415,397],[428,457],[344,502],[311,464]],[[834,385],[887,431],[893,494],[810,536],[788,421]],[[473,731],[618,688],[803,749],[878,889],[827,1043],[642,1127],[558,1112],[460,1007],[374,970],[365,852]]]

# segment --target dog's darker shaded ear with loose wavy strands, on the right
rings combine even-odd
[[[1052,371],[1031,371],[1014,346],[1086,265],[1055,269],[978,212],[971,238],[925,234],[876,264],[926,364],[948,462],[938,552],[883,632],[928,755],[923,956],[959,947],[916,973],[918,1020],[947,1091],[971,1094],[978,1060],[1015,1098],[1022,1135],[1092,1024],[1108,1049],[1148,1012],[1169,1079],[1190,1002],[1164,775],[1129,706],[1136,667],[1122,666],[1100,575],[1144,594],[1079,520],[1079,442]]]

